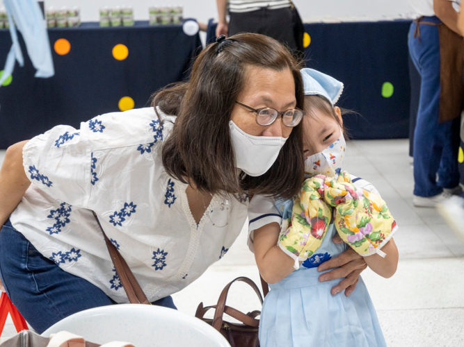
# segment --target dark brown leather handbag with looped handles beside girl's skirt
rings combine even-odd
[[[261,293],[259,292],[258,287],[255,285],[253,280],[246,277],[239,277],[230,282],[228,285],[225,286],[221,295],[219,296],[218,304],[214,306],[207,306],[203,307],[203,303],[200,303],[197,308],[197,312],[195,313],[195,317],[205,321],[206,323],[210,324],[221,332],[221,334],[229,341],[230,346],[232,347],[257,347],[259,346],[259,339],[258,339],[258,328],[259,328],[259,319],[256,319],[260,311],[253,311],[244,314],[239,310],[235,310],[233,307],[225,305],[225,301],[227,300],[227,294],[229,293],[230,286],[234,282],[245,282],[246,284],[250,285],[250,287],[255,290],[259,301],[261,304],[263,303],[263,299]],[[266,293],[266,289],[264,287],[264,280],[262,280],[263,290]],[[210,309],[215,309],[216,312],[214,313],[214,319],[206,319],[205,313]],[[234,319],[241,323],[230,323],[223,320],[223,315],[228,314]]]

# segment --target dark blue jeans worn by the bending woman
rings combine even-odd
[[[76,312],[115,304],[102,289],[40,254],[10,221],[0,232],[0,278],[13,305],[39,334]],[[153,305],[176,309],[171,296]]]

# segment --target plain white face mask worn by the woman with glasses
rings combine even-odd
[[[245,133],[233,121],[229,122],[237,168],[249,176],[261,176],[277,159],[285,137],[253,136]]]

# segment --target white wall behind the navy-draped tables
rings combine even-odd
[[[129,4],[134,7],[136,20],[148,19],[150,6],[177,5],[184,6],[184,17],[193,17],[199,22],[207,22],[216,17],[216,0],[45,0],[45,6],[79,6],[84,22],[97,21],[99,8]],[[294,0],[301,17],[333,16],[394,16],[409,12],[406,0]]]

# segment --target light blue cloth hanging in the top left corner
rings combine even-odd
[[[22,33],[32,65],[37,69],[35,77],[53,76],[55,71],[51,59],[50,42],[38,2],[36,0],[3,0],[3,3],[10,22],[13,45],[6,58],[5,68],[0,77],[0,85],[8,76],[13,74],[16,60],[19,66],[24,66],[24,57],[17,39],[16,26]]]

